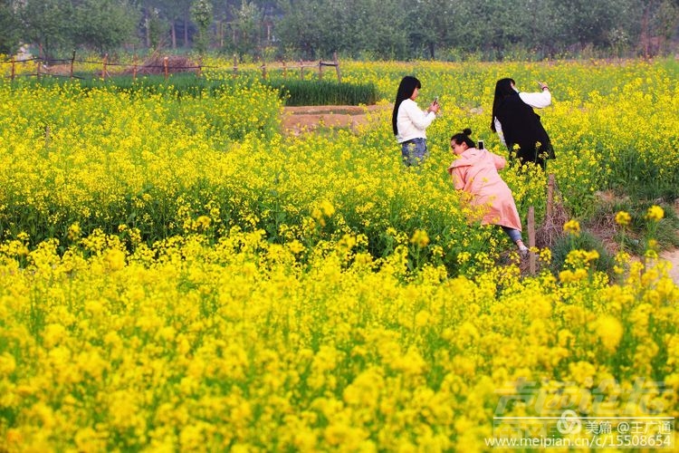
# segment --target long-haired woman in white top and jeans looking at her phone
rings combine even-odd
[[[412,75],[406,75],[398,84],[397,99],[391,114],[391,126],[401,145],[401,156],[406,166],[417,165],[426,159],[426,128],[436,118],[438,101],[434,100],[426,111],[416,103],[422,84]]]

